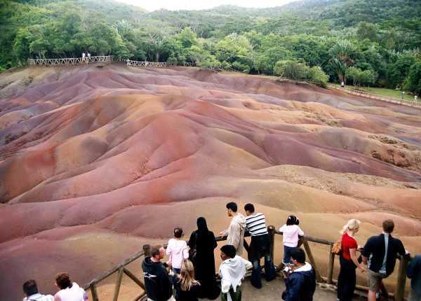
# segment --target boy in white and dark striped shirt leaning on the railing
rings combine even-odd
[[[260,275],[260,258],[265,258],[265,279],[271,281],[276,276],[276,268],[270,255],[271,241],[267,232],[265,215],[255,213],[253,204],[244,206],[246,211],[246,228],[251,235],[248,260],[253,264],[250,282],[255,288],[262,288]]]

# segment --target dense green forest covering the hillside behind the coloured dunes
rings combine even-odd
[[[110,0],[0,0],[0,27],[0,71],[90,52],[421,94],[419,0],[154,12]]]

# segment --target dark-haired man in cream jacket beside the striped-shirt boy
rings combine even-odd
[[[246,232],[246,218],[243,214],[237,212],[237,204],[234,202],[229,202],[227,204],[227,213],[228,216],[232,216],[231,223],[229,223],[229,228],[220,232],[220,235],[227,237],[227,244],[234,246],[236,250],[236,255],[243,253],[243,240],[244,232]]]

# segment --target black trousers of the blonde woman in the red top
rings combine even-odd
[[[340,255],[340,270],[338,276],[338,299],[340,301],[350,301],[354,297],[356,283],[356,265],[352,260],[346,260]]]

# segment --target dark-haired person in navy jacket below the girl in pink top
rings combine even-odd
[[[305,262],[305,253],[302,248],[293,248],[290,252],[294,269],[289,267],[283,270],[286,290],[282,293],[285,301],[312,301],[316,290],[316,272],[309,262]]]

